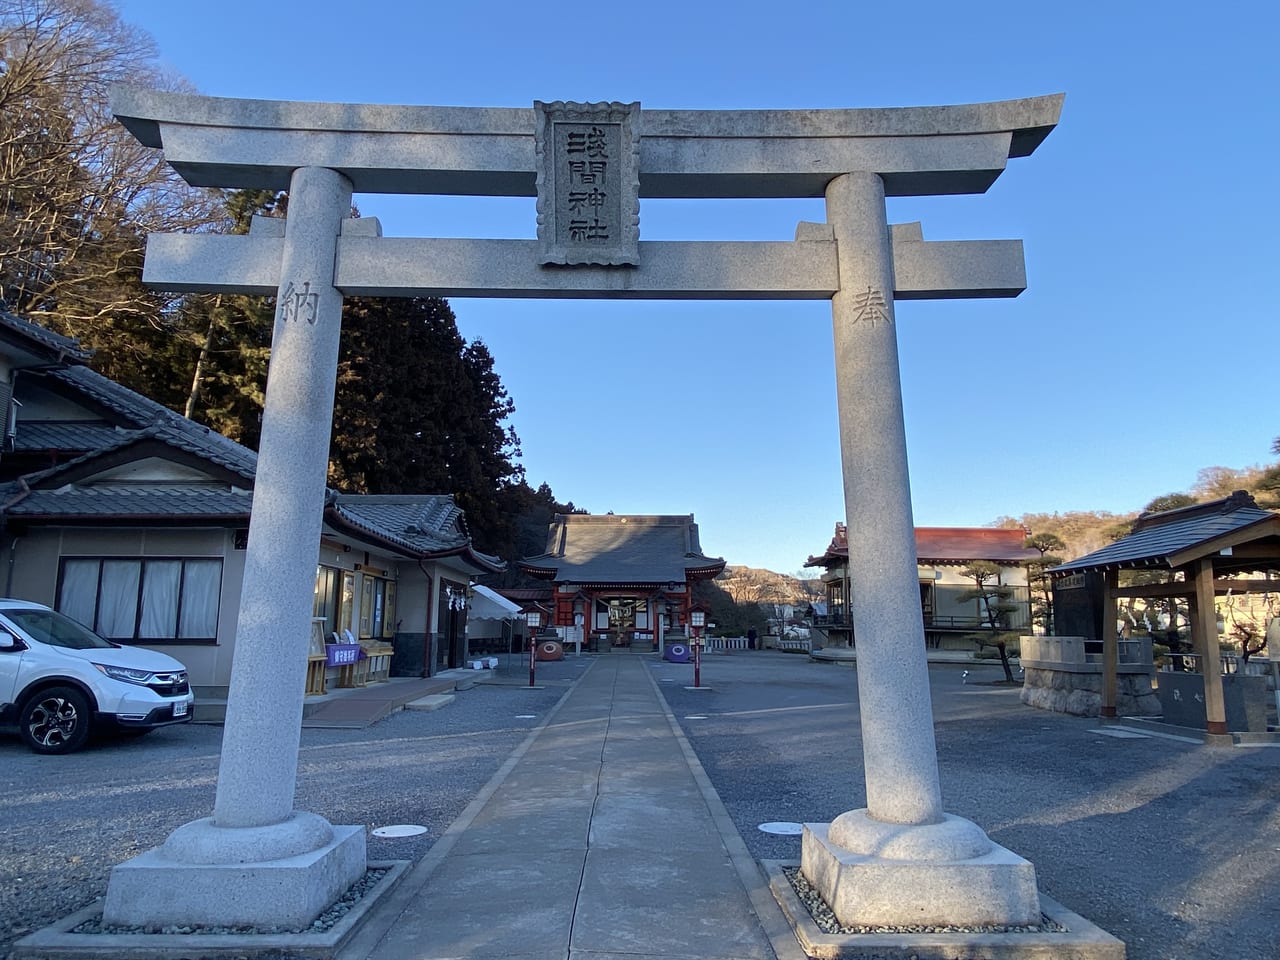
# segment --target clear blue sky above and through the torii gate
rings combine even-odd
[[[1274,460],[1280,13],[1185,4],[124,0],[202,93],[461,106],[964,104],[1066,93],[982,196],[890,201],[927,239],[1020,238],[1015,300],[900,303],[915,522],[1125,512]],[[532,237],[531,200],[357,197],[388,236]],[[820,201],[646,201],[643,239],[790,239]],[[824,302],[452,300],[535,486],[694,513],[794,572],[841,520]]]

